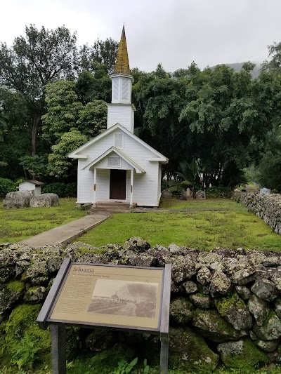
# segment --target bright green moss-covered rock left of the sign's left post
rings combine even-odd
[[[40,330],[36,322],[40,309],[41,305],[22,304],[11,312],[5,330],[7,360],[16,362],[22,356],[27,362],[49,363],[51,360],[50,333]]]

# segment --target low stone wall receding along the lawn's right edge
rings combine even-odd
[[[248,211],[262,218],[276,234],[281,235],[281,195],[247,194],[235,191],[233,200],[242,203]]]

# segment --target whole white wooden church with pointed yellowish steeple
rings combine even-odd
[[[124,27],[110,78],[112,102],[107,104],[107,130],[69,155],[78,159],[77,203],[158,206],[162,165],[169,160],[133,135],[136,109],[131,103],[133,76]]]

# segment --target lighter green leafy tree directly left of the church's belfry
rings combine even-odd
[[[48,84],[46,104],[43,135],[52,145],[48,171],[55,178],[74,178],[77,169],[67,155],[105,130],[107,105],[103,100],[94,100],[83,106],[73,81]]]

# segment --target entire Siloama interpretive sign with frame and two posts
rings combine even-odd
[[[131,267],[65,259],[37,318],[51,325],[53,373],[65,373],[65,326],[159,333],[167,373],[171,265]],[[63,359],[62,359],[63,356]]]

